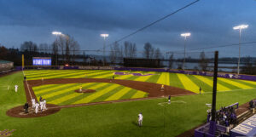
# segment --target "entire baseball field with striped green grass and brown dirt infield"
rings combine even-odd
[[[61,111],[44,117],[9,117],[29,92]],[[114,80],[113,80],[114,77]],[[15,93],[14,86],[19,86]],[[161,91],[161,85],[165,86]],[[9,87],[9,90],[8,90]],[[75,92],[92,89],[94,92]],[[201,87],[201,94],[199,88]],[[256,83],[218,77],[217,106],[255,98]],[[205,123],[212,77],[155,71],[29,70],[0,77],[0,130],[12,136],[177,136]],[[166,103],[164,95],[172,95]],[[77,106],[77,107],[76,107]],[[50,107],[49,107],[50,108]],[[143,113],[143,127],[137,114]]]

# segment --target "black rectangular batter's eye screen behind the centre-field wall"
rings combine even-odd
[[[160,67],[160,59],[134,59],[124,58],[125,67]]]

